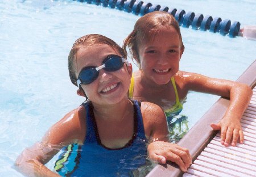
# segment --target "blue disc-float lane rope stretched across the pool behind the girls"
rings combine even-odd
[[[195,12],[185,12],[184,10],[177,10],[167,6],[152,5],[150,2],[136,1],[136,0],[73,0],[79,2],[86,2],[94,5],[101,5],[111,9],[123,10],[131,12],[135,15],[145,15],[152,11],[166,11],[173,15],[179,25],[185,28],[191,26],[192,29],[201,31],[210,31],[213,33],[219,32],[221,35],[228,35],[229,37],[236,37],[240,31],[240,22],[233,22],[229,19],[222,20],[220,17],[212,18],[210,15],[195,14]]]

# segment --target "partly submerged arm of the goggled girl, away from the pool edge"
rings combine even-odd
[[[85,110],[80,107],[69,112],[59,122],[53,125],[42,142],[23,150],[16,159],[15,166],[19,172],[26,176],[59,176],[49,170],[46,164],[62,147],[82,141],[81,134],[85,127],[81,127],[81,115]]]

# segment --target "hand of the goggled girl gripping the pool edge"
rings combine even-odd
[[[162,164],[165,164],[166,161],[175,162],[182,171],[187,171],[187,168],[192,163],[192,158],[188,149],[176,144],[171,144],[170,142],[151,142],[148,145],[147,150],[149,157],[153,161]]]

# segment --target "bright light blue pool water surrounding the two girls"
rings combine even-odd
[[[256,2],[148,1],[196,14],[256,25]],[[88,33],[106,35],[118,44],[139,16],[76,1],[0,2],[0,174],[13,169],[17,155],[40,141],[52,124],[84,100],[69,81],[67,57],[73,42]],[[180,69],[209,77],[236,79],[255,60],[256,41],[181,27],[185,52]],[[135,68],[135,66],[134,66]],[[183,114],[189,127],[218,96],[191,93]],[[48,165],[51,168],[51,163]]]

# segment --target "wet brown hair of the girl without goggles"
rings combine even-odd
[[[185,47],[182,42],[182,37],[180,33],[179,23],[175,20],[174,16],[165,11],[154,11],[150,12],[137,20],[135,23],[133,31],[129,36],[123,41],[123,49],[126,52],[126,48],[129,48],[131,56],[136,57],[138,62],[141,63],[138,55],[138,46],[143,42],[154,39],[156,33],[167,27],[174,27],[180,38],[180,49],[183,53]]]

